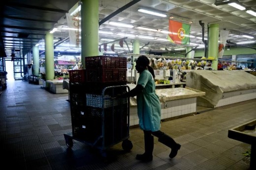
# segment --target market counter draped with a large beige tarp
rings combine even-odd
[[[205,96],[201,98],[205,99],[213,106],[221,106],[256,98],[256,76],[239,70],[195,70],[186,75],[186,86],[205,92]],[[250,96],[248,96],[248,94]],[[240,97],[240,100],[231,101],[230,103],[220,103],[220,100],[223,98],[237,95],[247,96]],[[229,98],[229,100],[230,99],[231,98]]]

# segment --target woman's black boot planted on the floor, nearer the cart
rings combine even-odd
[[[153,149],[154,149],[154,136],[151,135],[150,131],[144,131],[144,144],[145,144],[145,153],[137,154],[136,159],[143,162],[150,162],[153,160]]]

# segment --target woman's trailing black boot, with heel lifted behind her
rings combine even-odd
[[[164,133],[159,137],[158,141],[171,148],[171,153],[169,154],[170,158],[174,158],[177,155],[178,150],[181,148],[180,144],[177,144],[170,136]]]

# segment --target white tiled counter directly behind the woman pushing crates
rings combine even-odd
[[[136,85],[128,84],[130,90]],[[196,113],[196,97],[204,96],[205,92],[191,88],[157,89],[161,103],[161,119],[173,119]],[[139,123],[137,116],[136,97],[130,97],[130,126]]]

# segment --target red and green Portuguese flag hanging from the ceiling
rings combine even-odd
[[[168,40],[174,44],[190,44],[190,25],[169,20]]]

